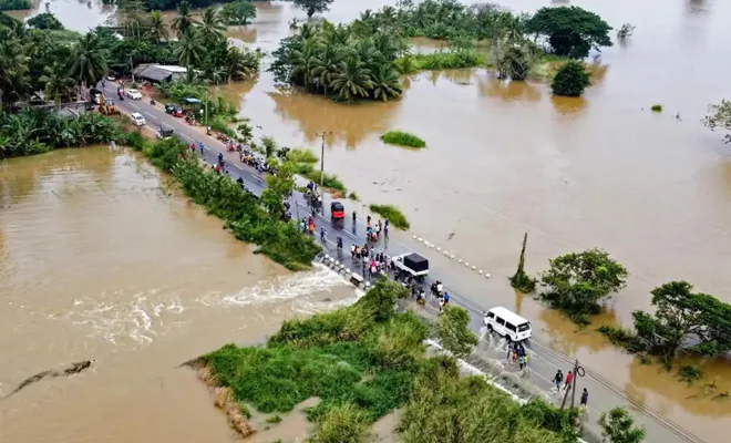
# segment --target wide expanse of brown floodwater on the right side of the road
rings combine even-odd
[[[327,17],[348,21],[392,1],[336,0]],[[549,4],[501,1],[514,12]],[[99,3],[101,4],[101,3]],[[97,20],[101,6],[92,3]],[[712,401],[698,383],[642,365],[590,330],[577,332],[555,311],[516,296],[504,277],[514,271],[523,233],[529,234],[527,269],[545,269],[559,254],[601,247],[630,270],[628,286],[601,321],[629,323],[650,307],[649,291],[684,279],[731,302],[731,151],[700,120],[709,103],[731,96],[731,4],[710,0],[593,0],[590,9],[635,34],[591,60],[594,85],[581,99],[553,97],[540,82],[501,82],[485,70],[426,72],[404,78],[404,96],[390,103],[334,104],[279,87],[269,73],[222,86],[251,119],[258,135],[319,153],[316,133],[332,132],[326,169],[363,202],[390,203],[411,220],[413,234],[450,250],[494,278],[432,254],[460,292],[482,306],[515,308],[536,324],[536,336],[581,359],[615,385],[641,399],[706,441],[731,429],[731,403]],[[64,23],[85,30],[70,9]],[[246,28],[229,30],[240,44],[271,51],[303,13],[286,2],[257,2]],[[81,17],[81,16],[79,16]],[[415,52],[440,43],[412,41]],[[593,54],[598,55],[598,54]],[[265,60],[266,62],[266,60]],[[662,113],[650,112],[662,104]],[[421,151],[383,145],[400,128],[428,142]],[[366,210],[363,208],[360,212]],[[404,243],[424,250],[411,238]],[[450,286],[450,281],[446,282]],[[455,284],[456,285],[456,284]],[[731,389],[728,361],[702,362],[703,383]]]

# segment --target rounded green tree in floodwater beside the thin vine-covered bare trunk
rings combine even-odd
[[[548,288],[543,297],[579,322],[588,322],[586,315],[598,313],[599,301],[624,288],[629,275],[601,249],[567,254],[549,264],[540,276],[542,285]]]

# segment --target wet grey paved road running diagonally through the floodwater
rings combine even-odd
[[[206,147],[204,159],[209,164],[217,162],[218,153],[224,153],[226,163],[230,166],[229,171],[233,179],[241,177],[246,187],[257,195],[260,195],[261,190],[264,190],[266,186],[264,176],[257,173],[254,168],[241,164],[236,154],[227,153],[226,146],[214,137],[207,136],[204,128],[199,126],[191,126],[185,123],[183,119],[176,119],[165,114],[162,103],[153,106],[150,104],[148,100],[132,101],[125,99],[124,101],[119,101],[116,100],[116,87],[117,85],[115,83],[107,82],[104,89],[100,89],[104,91],[105,96],[115,100],[115,103],[123,113],[141,113],[147,121],[147,126],[154,131],[158,131],[161,127],[173,128],[175,134],[187,145],[191,143],[196,143],[197,145],[198,142],[203,142]],[[292,216],[302,218],[310,215],[302,195],[297,192],[295,194],[296,195],[290,199]],[[328,230],[328,238],[322,247],[327,254],[340,259],[340,261],[346,264],[351,270],[360,271],[362,265],[360,262],[351,261],[350,259],[350,247],[352,244],[362,246],[366,243],[366,224],[363,218],[361,218],[362,215],[359,214],[358,219],[353,223],[350,217],[352,208],[349,209],[348,202],[343,202],[349,216],[346,220],[333,222],[330,218],[329,213],[330,197],[328,195],[325,195],[323,197],[325,205],[322,213],[313,214],[317,231],[319,233],[320,226],[325,226]],[[373,222],[375,220],[378,220],[377,217],[373,218]],[[334,241],[338,236],[343,239],[343,251],[338,251],[336,248]],[[374,246],[374,250],[382,251],[389,256],[413,251],[404,245],[406,241],[406,236],[404,234],[397,233],[395,229],[392,229],[390,231],[390,237],[391,238],[388,240],[384,238],[379,239],[378,244]],[[371,247],[371,245],[369,245],[369,247]],[[433,251],[432,254],[435,255],[439,253]],[[430,258],[429,254],[425,255]],[[434,260],[432,260],[432,266],[430,267],[430,278],[424,282],[428,292],[429,286],[433,279],[439,279],[444,282],[445,289],[452,296],[453,302],[470,310],[473,330],[478,331],[482,327],[482,311],[490,307],[478,306],[472,301],[477,298],[464,296],[469,292],[461,289],[459,281],[451,281],[449,274],[444,269],[434,266]],[[434,301],[432,300],[432,303]],[[558,368],[566,373],[573,367],[574,359],[555,351],[547,343],[536,338],[531,340],[527,348],[529,368],[526,373],[521,375],[522,379],[529,380],[531,384],[544,392],[546,400],[554,403],[560,403],[560,395],[552,392],[553,384],[550,383],[550,380]],[[494,365],[498,368],[502,367],[503,373],[509,374],[517,372],[517,368],[514,368],[512,363],[505,361],[505,344],[502,340],[494,337],[485,337],[485,340],[481,342],[477,352],[483,360],[492,361]],[[661,441],[663,443],[702,442],[698,436],[669,421],[660,412],[644,405],[638,399],[628,395],[624,389],[611,384],[611,382],[599,375],[597,371],[593,371],[590,368],[585,369],[586,377],[580,378],[577,384],[577,402],[578,395],[580,395],[580,390],[587,388],[589,391],[589,410],[584,420],[585,426],[591,432],[597,433],[596,421],[601,412],[617,405],[626,405],[632,410],[637,422],[646,426],[648,441]]]

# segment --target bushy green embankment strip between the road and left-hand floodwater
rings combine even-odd
[[[131,133],[126,144],[171,173],[181,188],[209,214],[223,219],[236,238],[258,245],[257,254],[288,269],[299,270],[308,268],[320,251],[310,237],[299,233],[294,224],[271,217],[254,195],[244,192],[228,176],[202,167],[195,156],[187,155],[182,142],[151,142],[138,133]]]

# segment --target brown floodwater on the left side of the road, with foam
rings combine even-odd
[[[0,400],[2,442],[235,441],[178,364],[353,300],[330,270],[295,275],[251,254],[135,157],[94,147],[0,163],[0,396],[96,360]]]

